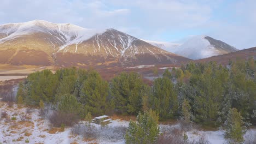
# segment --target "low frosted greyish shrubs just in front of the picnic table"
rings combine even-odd
[[[82,135],[86,138],[119,141],[124,139],[126,127],[95,127],[94,125],[77,124],[72,129],[73,134]]]

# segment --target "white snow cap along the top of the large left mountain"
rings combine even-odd
[[[106,29],[89,29],[83,28],[70,23],[51,23],[48,21],[34,20],[24,23],[8,23],[0,25],[0,33],[8,36],[0,39],[0,44],[5,41],[36,32],[53,35],[62,41],[59,51],[68,45],[79,44],[92,36],[105,32]]]

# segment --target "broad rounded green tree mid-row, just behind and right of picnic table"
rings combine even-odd
[[[121,73],[110,83],[115,111],[119,113],[138,113],[142,109],[142,97],[147,86],[137,73]]]

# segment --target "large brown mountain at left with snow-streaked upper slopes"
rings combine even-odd
[[[0,25],[0,63],[85,66],[188,60],[115,29],[41,20]]]

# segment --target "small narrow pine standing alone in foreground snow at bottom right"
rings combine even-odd
[[[245,122],[242,121],[242,116],[237,109],[232,108],[229,110],[228,118],[225,121],[225,137],[234,143],[243,143],[243,135],[246,133],[244,126]]]

